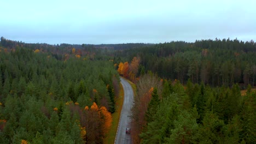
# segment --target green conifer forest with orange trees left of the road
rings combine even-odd
[[[0,48],[0,143],[102,143],[119,75],[78,54]]]

